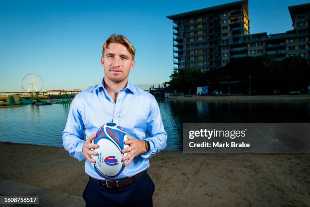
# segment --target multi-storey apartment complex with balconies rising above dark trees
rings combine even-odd
[[[173,20],[174,70],[203,72],[238,57],[290,55],[309,58],[310,4],[290,6],[293,30],[250,34],[248,1],[209,7],[168,16]]]

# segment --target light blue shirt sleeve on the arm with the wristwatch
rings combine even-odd
[[[150,137],[145,138],[150,144],[150,151],[141,154],[142,158],[150,158],[167,146],[167,132],[162,121],[161,112],[154,96],[150,102],[150,112],[147,118],[147,131]]]

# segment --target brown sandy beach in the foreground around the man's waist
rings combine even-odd
[[[61,147],[0,143],[0,177],[82,196],[84,161]],[[154,206],[306,206],[310,154],[183,154],[149,159]]]

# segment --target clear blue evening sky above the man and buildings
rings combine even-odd
[[[136,49],[130,81],[142,88],[169,81],[172,21],[166,16],[234,1],[0,1],[0,92],[22,91],[37,74],[44,90],[86,89],[103,77],[101,47],[111,33]],[[303,0],[249,0],[250,33],[291,30],[288,6]]]

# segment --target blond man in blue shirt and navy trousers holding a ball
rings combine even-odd
[[[154,183],[146,172],[148,158],[167,146],[167,133],[154,96],[128,81],[134,57],[127,38],[110,36],[102,47],[103,80],[77,94],[70,106],[62,145],[70,156],[86,158],[85,172],[90,177],[83,192],[86,206],[152,206]],[[90,156],[97,155],[91,150],[98,148],[92,144],[97,129],[109,122],[122,126],[128,135],[129,147],[123,150],[128,152],[123,158],[126,167],[117,180],[100,177]]]

